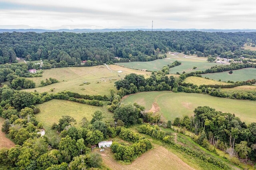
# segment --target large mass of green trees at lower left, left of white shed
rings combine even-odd
[[[42,128],[42,124],[35,121],[32,112],[33,109],[25,108],[20,111],[20,118],[12,115],[6,120],[11,125],[8,137],[17,145],[10,149],[0,150],[1,168],[76,170],[101,166],[102,158],[100,154],[91,152],[90,144],[102,140],[104,135],[100,130],[92,132],[95,128],[93,124],[89,125],[84,118],[82,127],[76,128],[73,126],[76,122],[74,118],[63,116],[58,124],[61,139],[51,140],[37,134],[37,129]],[[3,126],[2,130],[4,127],[6,126]],[[4,130],[6,132],[6,129]]]

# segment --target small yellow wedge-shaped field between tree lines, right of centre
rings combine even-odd
[[[229,83],[206,79],[203,77],[190,76],[184,80],[184,83],[193,83],[194,85],[227,85]]]

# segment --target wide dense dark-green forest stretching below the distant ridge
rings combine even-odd
[[[150,61],[158,59],[159,53],[172,50],[204,56],[256,57],[255,51],[242,49],[245,43],[255,41],[256,32],[5,32],[0,34],[0,63],[14,63],[18,57],[28,61],[45,60],[44,68],[81,66],[81,61],[91,66]]]

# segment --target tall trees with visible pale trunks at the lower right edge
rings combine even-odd
[[[234,114],[200,106],[194,110],[194,116],[184,116],[182,119],[177,117],[173,125],[200,134],[196,141],[206,148],[208,139],[217,148],[229,153],[230,150],[235,150],[246,160],[256,158],[256,123],[246,125]]]

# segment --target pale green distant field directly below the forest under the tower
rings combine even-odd
[[[182,54],[180,54],[182,55]],[[181,61],[182,64],[170,69],[171,74],[175,74],[176,72],[182,73],[185,71],[186,73],[190,73],[192,71],[198,70],[206,70],[216,63],[209,63],[206,57],[196,57],[196,56],[187,56],[187,57],[174,57],[173,55],[168,54],[168,57],[165,59],[157,59],[154,61],[134,61],[129,63],[116,63],[116,65],[122,65],[127,68],[139,69],[139,70],[150,70],[150,71],[158,71],[162,69],[164,65],[171,64],[174,61]],[[192,69],[193,67],[197,67],[196,70]]]

